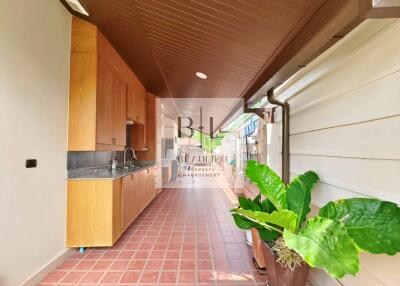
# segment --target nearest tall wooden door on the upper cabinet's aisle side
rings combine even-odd
[[[112,65],[97,57],[96,143],[113,144],[113,82]]]

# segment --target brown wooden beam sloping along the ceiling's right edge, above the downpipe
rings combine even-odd
[[[325,1],[286,47],[264,65],[242,97],[256,101],[253,95],[261,87],[279,86],[357,26],[362,21],[358,1]]]

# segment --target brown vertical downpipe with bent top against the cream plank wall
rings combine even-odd
[[[289,103],[274,99],[274,89],[267,92],[268,102],[282,107],[282,181],[290,182]]]

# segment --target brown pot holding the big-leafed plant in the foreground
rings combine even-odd
[[[293,271],[283,267],[277,262],[277,256],[271,247],[263,241],[262,251],[264,253],[265,268],[267,269],[267,284],[270,286],[305,286],[307,283],[310,266],[302,263]]]

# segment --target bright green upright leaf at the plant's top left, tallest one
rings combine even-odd
[[[246,176],[258,186],[260,193],[269,199],[277,210],[287,208],[285,185],[274,171],[250,160],[247,162]]]

